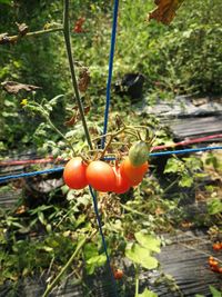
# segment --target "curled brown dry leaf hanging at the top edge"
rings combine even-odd
[[[155,19],[164,24],[170,24],[175,17],[175,11],[184,0],[155,0],[157,9],[151,11],[148,20]]]

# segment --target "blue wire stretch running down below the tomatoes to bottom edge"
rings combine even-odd
[[[101,218],[100,218],[99,209],[98,209],[97,192],[93,191],[91,187],[89,187],[89,188],[90,188],[90,194],[91,194],[92,200],[93,200],[94,212],[95,212],[97,220],[98,220],[98,227],[99,227],[100,236],[102,238],[102,246],[103,246],[103,250],[104,250],[104,254],[105,254],[105,257],[107,257],[107,264],[108,264],[108,267],[109,267],[110,277],[111,277],[111,280],[112,280],[112,285],[114,287],[114,294],[115,294],[115,296],[118,296],[117,283],[115,283],[115,279],[114,279],[114,276],[113,276],[113,273],[112,273],[112,268],[111,268],[111,264],[110,264],[110,257],[108,255],[108,248],[107,248],[104,235],[103,235],[103,231],[102,231],[102,222],[101,222]]]

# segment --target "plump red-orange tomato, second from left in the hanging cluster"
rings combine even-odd
[[[112,167],[103,161],[92,161],[87,168],[87,179],[98,191],[113,191],[117,179]]]

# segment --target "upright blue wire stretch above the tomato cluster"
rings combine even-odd
[[[118,9],[119,9],[119,0],[115,0],[114,1],[114,10],[113,10],[110,58],[109,58],[109,73],[108,73],[108,81],[107,81],[107,101],[105,101],[105,110],[104,110],[103,137],[101,140],[101,148],[102,149],[104,148],[105,133],[108,131],[108,118],[109,118],[109,109],[110,109],[110,89],[111,89],[111,81],[112,81],[112,68],[113,68],[113,58],[114,58],[117,24],[118,24]]]

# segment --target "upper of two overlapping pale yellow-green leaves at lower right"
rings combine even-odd
[[[154,236],[144,234],[142,231],[134,234],[134,236],[138,242],[145,249],[160,253],[160,239],[157,239]]]

